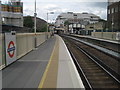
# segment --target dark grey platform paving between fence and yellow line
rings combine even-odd
[[[3,88],[37,88],[51,56],[53,37],[2,71]]]

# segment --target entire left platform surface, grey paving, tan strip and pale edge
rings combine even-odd
[[[2,71],[3,88],[84,88],[71,55],[55,35]]]

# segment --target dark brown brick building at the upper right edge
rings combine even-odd
[[[108,30],[120,32],[120,0],[108,0]]]

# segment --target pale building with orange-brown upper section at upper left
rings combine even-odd
[[[23,27],[23,3],[20,0],[9,0],[1,4],[2,24]]]

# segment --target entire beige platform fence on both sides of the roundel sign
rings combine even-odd
[[[50,38],[50,33],[37,33],[37,46],[41,45]],[[16,47],[17,59],[32,51],[35,47],[35,34],[34,33],[17,33],[16,34]],[[0,34],[0,67],[5,64],[4,53],[4,36]],[[0,69],[1,69],[0,68]]]

